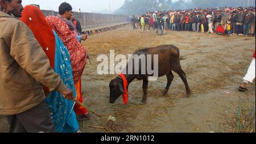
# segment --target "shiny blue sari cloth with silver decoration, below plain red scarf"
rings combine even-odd
[[[73,82],[73,74],[71,61],[68,53],[68,49],[59,39],[55,31],[53,31],[56,37],[56,50],[55,50],[55,72],[63,79],[64,84],[74,91],[76,99],[76,88]],[[66,100],[62,94],[53,91],[46,98],[48,107],[52,115],[52,120],[55,124],[56,132],[77,132],[79,130],[79,124],[76,120],[75,111],[73,107],[75,102]]]

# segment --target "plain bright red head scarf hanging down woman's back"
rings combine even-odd
[[[22,22],[34,33],[36,40],[42,46],[54,69],[55,61],[55,35],[52,28],[46,22],[43,12],[36,6],[26,6],[22,12]]]

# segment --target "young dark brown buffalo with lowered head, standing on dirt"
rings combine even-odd
[[[134,54],[138,54],[138,55],[158,54],[159,77],[163,77],[164,75],[167,76],[167,86],[163,92],[164,95],[167,94],[167,92],[171,86],[172,80],[174,79],[174,74],[172,74],[172,71],[175,71],[180,76],[182,81],[184,82],[185,89],[187,91],[187,96],[191,95],[191,91],[188,86],[186,74],[184,73],[184,71],[181,69],[181,66],[180,66],[180,52],[176,46],[160,45],[160,46],[156,46],[153,48],[146,48],[146,49],[138,50]],[[139,61],[139,65],[141,65],[141,63],[142,63],[141,61]],[[154,63],[153,58],[151,58],[151,61],[152,61],[152,67],[153,67],[153,63]],[[127,67],[128,67],[128,64],[125,69],[126,72],[127,72]],[[133,67],[134,67],[134,63],[133,63]],[[146,100],[147,100],[148,76],[152,76],[152,75],[148,75],[147,72],[146,72],[146,74],[141,74],[141,70],[139,70],[139,74],[125,74],[128,85],[132,81],[134,81],[134,79],[143,80],[142,103],[146,103]],[[114,103],[115,100],[117,100],[119,98],[119,96],[121,96],[124,93],[123,80],[120,77],[113,79],[109,84],[109,88],[110,88],[110,100],[109,101],[110,101],[110,103]],[[127,86],[127,90],[128,90],[128,86]]]

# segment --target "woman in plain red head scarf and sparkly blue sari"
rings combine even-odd
[[[63,79],[64,84],[73,90],[76,98],[75,84],[73,82],[72,67],[68,49],[59,39],[57,34],[47,24],[43,13],[35,6],[26,6],[23,10],[22,20],[30,27],[39,44],[49,58],[55,72]],[[67,100],[59,92],[51,92],[46,98],[52,121],[56,132],[77,132],[79,123],[73,111],[75,103]]]

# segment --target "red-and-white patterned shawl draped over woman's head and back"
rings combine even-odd
[[[86,62],[86,49],[79,43],[76,36],[69,29],[68,25],[56,16],[47,16],[46,21],[51,26],[67,46],[71,56],[72,72],[74,82],[79,82]]]

